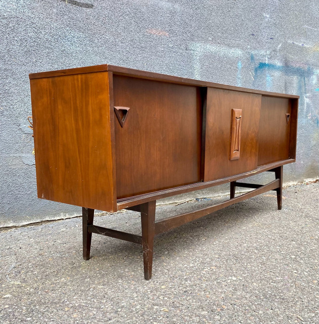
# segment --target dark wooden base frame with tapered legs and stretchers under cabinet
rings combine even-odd
[[[154,237],[161,233],[172,230],[178,226],[209,215],[224,207],[233,205],[243,200],[274,190],[277,192],[278,209],[282,208],[282,186],[283,186],[283,166],[268,170],[275,172],[275,180],[266,184],[251,184],[232,181],[230,182],[230,199],[210,207],[199,209],[195,212],[167,217],[159,222],[155,222],[156,200],[140,205],[128,207],[127,209],[141,213],[142,236],[116,231],[93,225],[94,209],[82,208],[83,217],[83,259],[89,260],[91,249],[92,233],[101,234],[120,240],[133,242],[142,245],[144,258],[144,277],[150,280],[152,277]],[[235,197],[236,187],[254,188],[254,190]]]

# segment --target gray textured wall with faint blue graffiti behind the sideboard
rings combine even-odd
[[[30,72],[110,63],[298,94],[285,182],[318,177],[318,1],[82,1],[0,0],[0,226],[80,214],[36,198]]]

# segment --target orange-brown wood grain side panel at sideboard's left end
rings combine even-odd
[[[38,197],[113,211],[107,72],[31,79],[30,85]]]

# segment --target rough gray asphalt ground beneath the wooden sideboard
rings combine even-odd
[[[95,220],[140,233],[135,212]],[[81,235],[80,218],[0,232],[1,324],[319,323],[318,182],[281,211],[269,192],[160,235],[150,281],[139,245],[93,234],[83,261]]]

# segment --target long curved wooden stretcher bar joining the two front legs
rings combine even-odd
[[[187,214],[182,214],[182,215],[177,215],[177,216],[173,216],[173,217],[168,217],[166,219],[163,219],[157,223],[155,223],[155,233],[156,235],[169,231],[173,228],[176,228],[178,226],[181,226],[185,223],[194,221],[200,217],[206,216],[208,214],[211,214],[217,210],[220,210],[224,207],[230,206],[232,204],[238,203],[240,201],[243,201],[245,199],[263,194],[267,191],[279,188],[280,186],[280,180],[276,179],[270,183],[268,183],[267,185],[264,185],[258,189],[249,191],[245,194],[242,194],[240,196],[237,196],[235,198],[229,199],[223,203],[208,207],[208,208],[204,208],[204,209],[200,209],[197,210],[195,212],[191,212],[191,213],[187,213]]]

